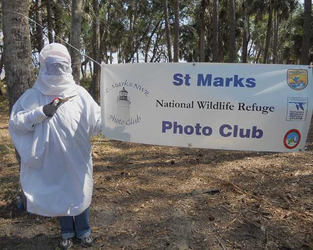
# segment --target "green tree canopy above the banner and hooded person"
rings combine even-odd
[[[73,33],[77,2],[82,2],[80,39]],[[93,73],[94,47],[99,63],[171,62],[176,44],[175,56],[184,62],[299,64],[303,34],[309,34],[304,57],[311,62],[313,18],[308,24],[304,13],[298,0],[30,0],[28,17],[34,66],[48,42],[69,50],[67,43],[80,44],[78,67],[85,77],[88,67]],[[2,25],[1,20],[1,30]]]

